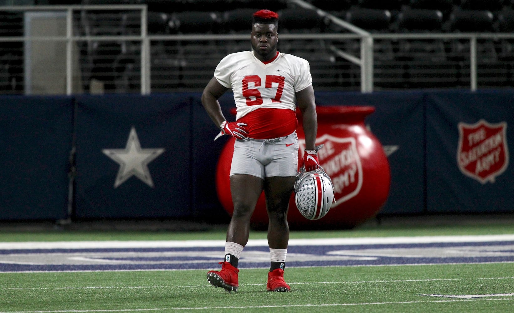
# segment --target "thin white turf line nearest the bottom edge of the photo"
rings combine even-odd
[[[252,305],[252,306],[213,306],[213,307],[170,307],[170,308],[148,308],[148,309],[101,309],[101,310],[54,310],[54,311],[0,311],[0,313],[87,313],[87,312],[144,312],[144,311],[171,311],[171,310],[225,310],[225,309],[261,309],[261,308],[288,308],[288,307],[337,307],[337,306],[366,306],[366,305],[387,305],[387,304],[415,304],[415,303],[445,303],[445,302],[468,302],[468,301],[504,301],[514,298],[496,299],[455,299],[436,301],[401,301],[401,302],[368,302],[368,303],[327,303],[327,304],[289,304],[289,305]]]

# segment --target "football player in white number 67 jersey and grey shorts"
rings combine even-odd
[[[284,267],[289,241],[287,210],[298,172],[296,105],[302,113],[307,171],[319,167],[315,140],[317,116],[309,63],[277,50],[279,16],[260,10],[252,16],[252,51],[231,53],[217,65],[201,96],[220,135],[236,138],[230,169],[234,212],[227,230],[222,269],[208,282],[227,291],[238,288],[238,261],[248,242],[250,218],[261,192],[269,216],[271,265],[267,290],[289,291]],[[232,89],[236,120],[227,121],[217,99]]]

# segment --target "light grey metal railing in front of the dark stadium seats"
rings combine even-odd
[[[301,0],[292,1],[300,6],[306,8],[313,8],[308,3],[305,3]],[[139,62],[138,76],[139,76],[139,92],[143,95],[150,94],[152,92],[152,64],[153,56],[155,53],[152,51],[152,46],[158,44],[168,43],[170,46],[180,46],[181,43],[190,43],[198,44],[197,42],[201,41],[203,43],[222,43],[213,45],[209,49],[212,49],[213,54],[216,56],[214,59],[219,61],[219,56],[223,56],[223,53],[227,51],[227,45],[234,43],[235,41],[247,41],[249,39],[248,34],[149,34],[148,33],[148,10],[146,5],[71,5],[71,6],[16,6],[16,7],[2,7],[1,11],[16,11],[16,12],[31,12],[31,11],[39,11],[39,12],[65,12],[66,13],[66,35],[56,35],[56,36],[1,36],[1,43],[10,43],[10,42],[29,42],[29,41],[43,41],[43,42],[64,42],[66,43],[66,83],[65,83],[65,93],[67,95],[71,95],[74,93],[73,90],[73,77],[74,77],[74,45],[84,42],[113,42],[113,41],[123,41],[123,42],[134,42],[139,45],[139,51],[137,52],[137,58]],[[80,33],[80,31],[76,31],[76,29],[80,28],[77,25],[77,21],[74,16],[79,16],[82,12],[85,11],[135,11],[139,12],[139,27],[140,31],[138,34],[119,34],[119,35],[105,35],[105,34],[88,34],[88,33]],[[294,46],[295,41],[317,41],[320,42],[321,45],[324,45],[324,48],[327,49],[328,52],[332,53],[333,56],[343,60],[344,62],[350,62],[360,68],[360,91],[363,93],[369,93],[374,90],[374,58],[377,57],[374,52],[375,42],[376,41],[398,41],[398,40],[466,40],[469,41],[469,79],[470,85],[469,88],[471,90],[476,90],[478,88],[477,83],[477,42],[478,40],[512,40],[514,39],[514,34],[512,33],[370,33],[364,31],[358,27],[355,27],[352,24],[348,24],[345,21],[337,19],[330,14],[327,14],[321,10],[317,10],[318,14],[321,16],[325,16],[327,19],[331,20],[331,23],[337,24],[338,26],[346,29],[349,33],[281,33],[280,40],[281,42],[290,42],[290,46]],[[353,54],[352,52],[345,50],[344,45],[338,45],[338,43],[347,43],[350,41],[359,41],[360,49],[357,54]],[[249,40],[248,40],[249,42]],[[301,48],[301,47],[300,47]],[[207,49],[202,48],[201,44],[198,44],[197,50]],[[136,49],[137,50],[137,49]],[[179,53],[179,48],[173,50],[170,54],[167,54],[163,58],[176,58]],[[298,51],[298,50],[296,50]],[[177,52],[177,55],[175,54]],[[287,52],[287,51],[286,51]],[[187,58],[187,50],[182,51],[182,57],[185,56]],[[196,52],[192,52],[194,54]],[[306,51],[306,55],[308,56],[308,51]],[[201,58],[201,57],[200,57]],[[217,58],[217,59],[216,59]],[[198,58],[196,59],[198,60]],[[182,61],[177,61],[182,62]],[[194,61],[193,61],[194,62]],[[214,61],[213,61],[214,62]],[[341,61],[338,61],[341,62]],[[334,63],[335,64],[335,63]],[[343,64],[343,63],[337,63]],[[210,71],[210,75],[212,77],[212,73],[214,68],[212,68],[212,64],[209,65],[208,71]],[[154,67],[155,68],[155,67]],[[327,65],[327,70],[335,70],[334,68],[330,68]],[[341,69],[342,71],[342,69]],[[186,75],[187,72],[182,72]],[[166,72],[163,73],[164,77],[166,77]],[[195,75],[194,72],[190,75]],[[321,76],[323,73],[321,73]],[[204,84],[206,84],[208,80],[205,80]],[[336,83],[334,83],[336,84]],[[334,86],[332,84],[331,86]],[[170,84],[170,88],[173,89],[174,85]],[[196,87],[198,88],[198,87]],[[171,90],[170,89],[170,90]],[[177,87],[179,90],[180,87]],[[166,91],[166,89],[164,89]],[[1,91],[0,91],[1,93]]]

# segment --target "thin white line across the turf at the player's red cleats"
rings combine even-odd
[[[441,279],[408,279],[408,280],[382,280],[382,281],[354,281],[354,282],[315,282],[315,283],[291,283],[289,285],[319,285],[319,284],[377,284],[377,283],[407,283],[407,282],[447,282],[447,281],[469,281],[469,280],[504,280],[512,279],[514,277],[485,277],[485,278],[441,278]],[[245,284],[245,286],[263,286],[266,284]],[[0,288],[0,290],[46,290],[46,289],[152,289],[152,288],[198,288],[198,287],[212,287],[209,284],[205,285],[190,285],[190,286],[175,286],[175,285],[162,285],[162,286],[89,286],[89,287],[38,287],[38,288]],[[507,294],[514,296],[513,294]],[[449,297],[458,298],[453,296],[442,296],[437,294],[421,294],[421,296],[434,296],[434,297]]]

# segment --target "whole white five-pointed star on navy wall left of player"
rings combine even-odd
[[[141,179],[146,185],[154,187],[148,164],[164,152],[163,148],[141,149],[134,126],[128,134],[125,149],[103,149],[102,152],[120,164],[114,188],[132,176]]]

